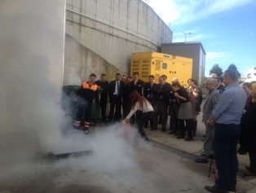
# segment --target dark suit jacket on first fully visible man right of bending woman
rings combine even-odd
[[[163,103],[166,106],[168,106],[170,104],[170,99],[168,96],[168,94],[170,93],[170,84],[164,84],[162,87],[160,84],[157,84],[157,86],[155,86],[152,91],[154,93],[153,102],[161,99],[161,96],[162,96]]]

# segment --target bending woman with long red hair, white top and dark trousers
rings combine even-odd
[[[151,103],[148,101],[148,99],[140,96],[140,94],[135,90],[130,94],[130,105],[130,113],[128,116],[126,116],[126,119],[123,121],[123,123],[125,124],[127,121],[129,121],[130,117],[133,116],[136,111],[143,112],[143,115],[139,118],[136,124],[138,126],[141,137],[143,137],[145,141],[149,141],[143,129],[143,125],[145,125],[145,123],[153,118],[153,107]]]

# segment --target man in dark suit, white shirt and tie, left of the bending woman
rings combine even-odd
[[[110,111],[108,114],[108,122],[121,121],[121,98],[124,93],[125,83],[121,81],[121,74],[116,74],[116,80],[110,81],[108,86],[108,97],[110,103]]]

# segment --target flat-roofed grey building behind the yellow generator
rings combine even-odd
[[[193,59],[192,77],[201,86],[205,76],[205,50],[200,42],[166,43],[161,45],[161,52]]]

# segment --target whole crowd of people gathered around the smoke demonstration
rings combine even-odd
[[[249,152],[250,165],[245,167],[247,172],[244,174],[256,174],[256,84],[245,83],[241,88],[238,84],[239,72],[235,70],[225,71],[222,77],[211,74],[205,81],[208,94],[201,106],[202,90],[194,78],[188,79],[189,86],[184,88],[177,77],[170,84],[166,75],[161,75],[158,82],[155,82],[153,75],[148,77],[148,82],[140,80],[138,72],[134,72],[132,76],[117,73],[116,79],[108,83],[105,74],[101,74],[99,81],[95,81],[95,74],[91,74],[89,81],[83,82],[77,92],[80,99],[75,128],[80,125],[82,111],[85,111],[84,131],[88,134],[91,103],[95,97],[104,122],[112,124],[130,121],[137,125],[141,136],[148,141],[143,127],[148,128],[149,124],[150,130],[157,130],[157,125],[161,124],[161,132],[166,132],[169,115],[169,134],[192,141],[196,137],[197,116],[202,107],[202,122],[205,124],[204,151],[195,161],[205,163],[214,156],[218,165],[215,185],[205,186],[205,189],[210,192],[236,190],[238,142],[241,154]],[[98,86],[103,89],[99,96]],[[108,102],[110,111],[107,121]]]

